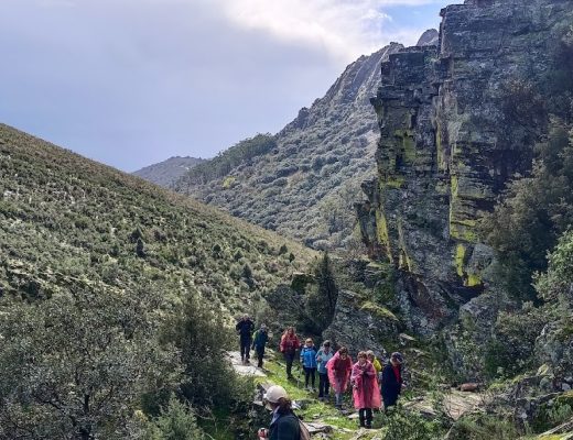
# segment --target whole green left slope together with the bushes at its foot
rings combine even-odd
[[[215,405],[242,429],[226,326],[314,258],[6,125],[0,250],[2,439],[183,438]]]

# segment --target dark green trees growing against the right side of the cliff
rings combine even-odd
[[[550,74],[538,84],[516,79],[501,90],[506,134],[525,132],[521,141],[536,144],[536,158],[531,175],[512,182],[483,222],[488,242],[504,262],[506,288],[526,299],[534,296],[532,274],[547,268],[547,252],[573,223],[573,30],[560,32]],[[547,89],[548,98],[542,100],[539,89]],[[542,132],[547,138],[540,138]]]

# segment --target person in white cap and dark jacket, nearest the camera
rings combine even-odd
[[[300,440],[301,426],[292,411],[292,404],[284,388],[272,385],[264,394],[267,408],[272,411],[269,429],[259,429],[259,438],[268,440]]]

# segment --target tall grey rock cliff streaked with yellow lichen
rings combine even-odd
[[[542,121],[536,133],[509,123],[502,90],[547,75],[573,3],[473,0],[441,14],[436,47],[404,48],[382,63],[371,99],[378,177],[357,206],[370,254],[400,270],[408,324],[422,333],[455,319],[491,282],[494,255],[478,221],[508,180],[530,169],[528,145],[544,130]]]

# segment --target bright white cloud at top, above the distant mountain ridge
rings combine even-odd
[[[236,25],[271,36],[318,46],[352,61],[394,41],[385,32],[389,6],[418,6],[435,0],[208,0]]]

